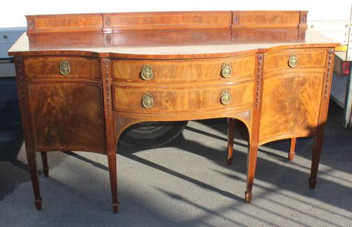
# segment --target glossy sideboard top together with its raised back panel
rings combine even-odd
[[[27,32],[8,54],[213,58],[281,48],[339,45],[307,28],[306,14],[306,11],[208,11],[30,15]]]

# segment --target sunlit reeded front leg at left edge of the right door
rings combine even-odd
[[[257,155],[258,145],[249,145],[247,157],[247,189],[245,193],[246,202],[251,202],[252,200],[252,188],[254,174],[256,174]]]

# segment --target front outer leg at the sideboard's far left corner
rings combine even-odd
[[[35,160],[35,153],[27,151],[28,168],[30,169],[30,179],[32,180],[35,207],[42,209],[42,197],[40,197],[39,179],[37,171],[37,162]]]

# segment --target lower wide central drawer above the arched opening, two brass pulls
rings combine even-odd
[[[253,82],[167,89],[113,86],[113,103],[115,111],[125,112],[218,110],[252,105],[253,87]]]

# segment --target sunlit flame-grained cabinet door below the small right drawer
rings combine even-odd
[[[279,73],[264,78],[261,144],[315,133],[323,78],[324,72]]]

